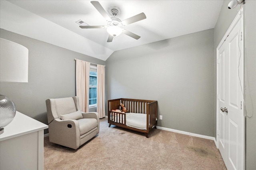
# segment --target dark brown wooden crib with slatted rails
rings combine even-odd
[[[131,113],[142,113],[146,114],[146,129],[137,129],[126,125],[126,113],[119,113],[112,110],[118,109],[120,103],[124,104],[126,109]],[[118,127],[123,127],[133,131],[138,131],[144,133],[148,138],[148,133],[153,127],[156,128],[157,124],[157,101],[154,100],[137,100],[137,99],[114,99],[108,100],[108,123],[109,127],[111,125],[116,125]]]

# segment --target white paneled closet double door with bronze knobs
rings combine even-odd
[[[228,170],[244,168],[244,57],[241,30],[242,21],[238,20],[218,53],[219,150]]]

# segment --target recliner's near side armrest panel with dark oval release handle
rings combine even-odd
[[[77,120],[54,119],[49,124],[49,136],[50,142],[77,149],[80,145],[79,123]]]

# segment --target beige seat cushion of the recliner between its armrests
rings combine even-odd
[[[98,125],[97,119],[93,118],[78,119],[77,121],[79,123],[80,136],[94,129]]]

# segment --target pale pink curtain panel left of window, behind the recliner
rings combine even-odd
[[[89,112],[90,64],[76,59],[76,96],[83,112]]]

